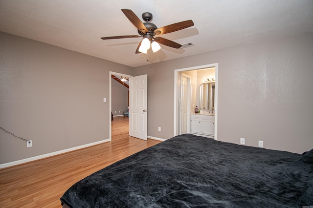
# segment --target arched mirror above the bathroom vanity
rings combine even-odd
[[[200,110],[212,110],[214,108],[215,82],[201,83],[199,91]]]

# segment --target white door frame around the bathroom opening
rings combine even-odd
[[[203,68],[211,68],[215,67],[215,99],[214,99],[214,139],[218,140],[218,71],[219,71],[219,64],[218,63],[211,63],[206,65],[199,65],[199,66],[193,66],[188,68],[180,68],[174,70],[174,136],[177,136],[179,134],[178,132],[178,125],[180,125],[180,121],[178,119],[178,112],[179,112],[179,102],[178,99],[180,97],[180,93],[178,93],[178,90],[180,89],[180,83],[179,83],[179,73],[183,71],[192,71],[192,70],[199,70]],[[190,102],[190,101],[188,101]],[[188,126],[190,128],[190,126]]]

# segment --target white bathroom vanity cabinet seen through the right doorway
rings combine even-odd
[[[190,132],[214,138],[214,115],[191,114]]]

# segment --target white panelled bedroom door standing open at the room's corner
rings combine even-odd
[[[129,79],[129,135],[147,140],[148,75]]]

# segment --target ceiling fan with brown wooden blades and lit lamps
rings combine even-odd
[[[181,22],[164,26],[164,27],[157,28],[154,23],[149,22],[152,20],[152,17],[153,17],[152,14],[149,12],[145,12],[142,14],[142,19],[146,22],[140,21],[140,19],[130,9],[122,9],[122,12],[138,29],[139,35],[112,36],[112,37],[103,37],[101,39],[108,40],[108,39],[142,37],[143,39],[141,42],[139,42],[139,45],[135,53],[147,53],[150,47],[152,47],[153,52],[156,52],[161,48],[158,43],[167,45],[173,48],[180,48],[181,45],[177,42],[173,42],[165,38],[154,37],[154,36],[175,32],[175,31],[182,30],[182,29],[185,29],[187,27],[191,27],[194,25],[194,22],[192,20],[187,20],[187,21],[181,21]]]

